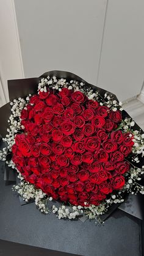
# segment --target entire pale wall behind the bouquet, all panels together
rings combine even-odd
[[[76,73],[120,100],[140,93],[143,0],[0,0],[0,4],[3,104],[9,100],[7,79],[48,70]]]

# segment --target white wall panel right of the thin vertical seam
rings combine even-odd
[[[109,0],[98,84],[120,100],[138,95],[144,79],[144,1]]]

